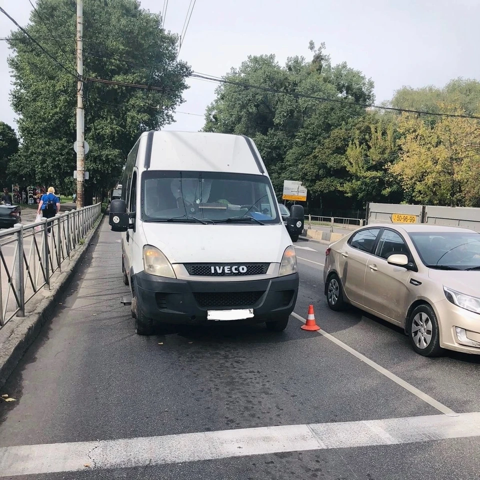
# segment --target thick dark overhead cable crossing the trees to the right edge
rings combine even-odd
[[[480,116],[474,116],[474,115],[463,115],[459,113],[446,113],[446,112],[430,112],[430,111],[423,111],[423,110],[412,110],[408,108],[396,108],[393,106],[380,106],[380,105],[375,105],[373,103],[361,103],[357,101],[350,101],[350,100],[342,100],[340,98],[325,98],[321,96],[316,96],[316,95],[307,95],[305,93],[299,93],[299,92],[291,92],[291,91],[282,91],[278,90],[276,88],[269,88],[266,86],[260,86],[260,85],[252,85],[250,83],[244,83],[241,81],[233,81],[233,80],[227,80],[225,78],[219,79],[210,75],[204,75],[200,74],[197,72],[193,72],[190,75],[191,78],[198,78],[201,80],[208,80],[208,81],[214,81],[216,83],[223,83],[223,84],[229,84],[229,85],[236,85],[236,86],[241,86],[243,88],[254,88],[257,90],[262,90],[262,91],[268,91],[270,93],[279,93],[283,95],[290,95],[295,98],[307,98],[310,100],[318,100],[318,101],[324,101],[324,102],[331,102],[331,103],[339,103],[342,105],[353,105],[353,106],[361,106],[363,108],[378,108],[380,110],[391,110],[391,111],[399,111],[399,112],[405,112],[405,113],[416,113],[418,115],[433,115],[433,116],[446,116],[446,117],[453,117],[453,118],[470,118],[470,119],[475,119],[475,120],[480,120]]]

